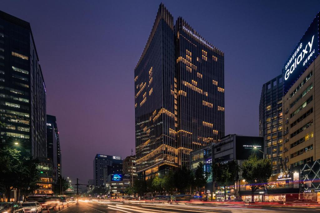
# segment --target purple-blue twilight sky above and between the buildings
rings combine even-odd
[[[225,52],[226,134],[258,135],[262,84],[282,66],[320,1],[163,1]],[[135,147],[134,67],[160,1],[1,1],[31,24],[57,117],[62,173],[86,183],[97,153]]]

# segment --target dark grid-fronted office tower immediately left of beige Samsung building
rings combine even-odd
[[[259,105],[259,135],[264,137],[265,157],[273,174],[283,171],[282,153],[282,74],[263,84]]]

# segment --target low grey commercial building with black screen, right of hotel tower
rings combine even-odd
[[[191,152],[190,169],[195,170],[197,165],[202,162],[205,165],[206,171],[214,172],[212,171],[212,164],[228,164],[228,162],[232,160],[237,161],[238,165],[241,166],[242,162],[252,154],[263,158],[263,148],[263,137],[229,134],[221,138],[220,143],[209,144]],[[241,171],[239,176],[241,179]],[[227,186],[227,199],[234,199],[241,196],[238,187],[239,184],[240,183],[235,183],[233,186]],[[203,194],[213,200],[223,200],[224,188],[214,183],[211,176],[207,181],[205,193]]]

